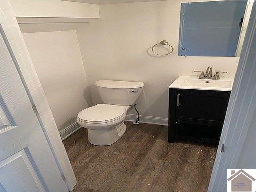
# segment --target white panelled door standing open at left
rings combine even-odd
[[[0,192],[67,192],[0,26]]]

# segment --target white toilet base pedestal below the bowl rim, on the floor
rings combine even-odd
[[[126,124],[122,122],[118,126],[115,126],[106,130],[88,130],[88,141],[93,145],[105,146],[111,145],[120,139],[126,132]]]

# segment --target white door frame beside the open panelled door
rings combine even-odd
[[[12,53],[13,60],[17,62],[18,73],[30,99],[31,106],[52,150],[62,178],[68,190],[72,191],[77,183],[76,177],[12,10],[10,0],[1,0],[0,3],[0,34],[6,41],[6,46]]]

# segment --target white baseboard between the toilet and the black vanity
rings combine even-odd
[[[134,114],[127,114],[125,121],[135,121],[138,116]],[[140,115],[140,123],[157,124],[168,126],[168,118],[150,117]]]

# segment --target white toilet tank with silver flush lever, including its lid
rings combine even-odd
[[[100,97],[106,104],[134,105],[140,102],[143,82],[98,80],[95,82]]]

